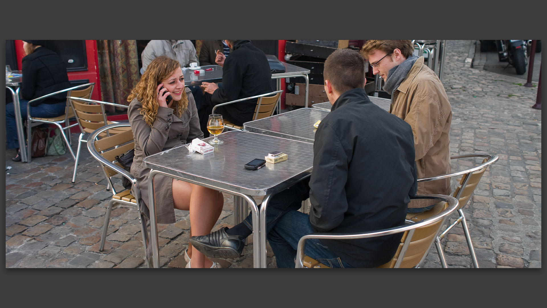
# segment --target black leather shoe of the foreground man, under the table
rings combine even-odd
[[[208,235],[190,237],[190,244],[208,258],[237,259],[245,247],[245,238],[226,233],[228,227],[214,231]]]

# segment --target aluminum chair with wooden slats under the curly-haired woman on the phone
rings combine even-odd
[[[106,134],[107,130],[110,129],[121,129],[127,128],[123,133],[115,134],[112,136],[104,136],[100,138],[101,134]],[[129,123],[118,123],[110,124],[98,128],[88,138],[88,150],[103,168],[104,175],[106,176],[108,185],[112,187],[112,198],[108,201],[108,206],[106,213],[104,214],[104,224],[103,232],[101,235],[101,242],[99,250],[104,249],[104,242],[106,241],[106,235],[108,231],[108,224],[110,221],[110,212],[112,212],[112,207],[114,204],[128,204],[130,206],[135,206],[139,210],[139,201],[141,199],[141,190],[137,185],[137,179],[131,173],[127,172],[124,168],[120,167],[120,164],[116,161],[115,157],[121,153],[125,153],[135,147],[135,141],[133,141],[133,132]],[[131,194],[131,190],[123,190],[121,192],[116,192],[114,185],[112,185],[112,176],[116,174],[121,174],[125,178],[131,181],[131,186],[133,191],[135,191],[135,196]],[[142,243],[144,246],[144,258],[149,267],[152,267],[152,260],[148,259],[146,254],[149,237],[147,233],[147,218],[139,210],[139,223],[141,223],[141,233],[142,233]]]

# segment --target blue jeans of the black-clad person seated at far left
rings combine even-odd
[[[19,100],[21,118],[23,121],[27,119],[27,102],[28,100],[25,99]],[[66,104],[66,101],[61,101],[56,104],[40,104],[34,107],[31,106],[31,115],[39,118],[57,117],[65,114]],[[8,149],[18,149],[19,138],[17,136],[17,127],[15,124],[15,109],[13,101],[5,104],[5,131]]]

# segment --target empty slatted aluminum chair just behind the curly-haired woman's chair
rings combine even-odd
[[[85,134],[90,134],[100,127],[106,126],[108,124],[115,124],[118,122],[108,121],[106,118],[106,112],[104,112],[104,105],[110,105],[115,107],[124,107],[129,106],[114,104],[112,102],[92,100],[77,98],[73,96],[67,96],[72,109],[74,110],[74,115],[76,117],[76,122],[80,127],[80,136],[78,137],[78,150],[76,152],[76,158],[74,162],[74,172],[72,174],[72,183],[76,180],[76,170],[78,169],[78,161],[80,158],[80,150],[82,149],[82,142],[88,142],[88,138],[84,138]],[[109,136],[110,134],[118,134],[125,132],[126,130],[131,129],[130,127],[122,127],[117,129],[109,129],[105,133],[101,134],[100,137]]]

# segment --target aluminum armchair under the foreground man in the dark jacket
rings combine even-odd
[[[371,238],[384,235],[392,235],[395,233],[403,233],[401,243],[393,258],[386,264],[378,267],[382,268],[399,268],[399,267],[419,267],[433,246],[435,238],[440,232],[441,227],[445,224],[446,219],[452,212],[458,208],[458,200],[451,196],[445,195],[416,195],[412,199],[438,199],[446,203],[439,203],[440,212],[429,218],[420,221],[406,220],[404,226],[392,227],[378,231],[364,233],[312,233],[305,235],[298,241],[296,249],[296,264],[295,267],[310,267],[310,268],[325,268],[328,267],[317,260],[304,255],[305,242],[309,238],[318,239],[356,239],[356,238]]]

